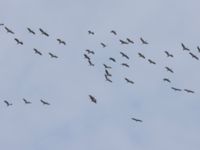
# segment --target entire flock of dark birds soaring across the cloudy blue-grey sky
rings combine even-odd
[[[0,24],[0,26],[3,26],[4,29],[5,29],[5,31],[6,31],[7,33],[13,34],[13,35],[15,34],[14,31],[12,31],[11,29],[9,29],[9,28],[8,28],[7,26],[5,26],[4,24]],[[39,30],[39,32],[40,32],[42,35],[44,35],[44,36],[46,36],[46,37],[49,37],[49,34],[48,34],[46,31],[44,31],[42,28],[39,28],[38,30]],[[33,31],[33,30],[32,30],[31,28],[29,28],[29,27],[27,28],[27,32],[29,32],[29,33],[32,34],[32,35],[35,35],[35,34],[36,34],[36,32]],[[115,30],[111,30],[110,33],[113,34],[114,36],[117,36],[117,32],[116,32]],[[89,35],[95,35],[95,32],[89,30],[89,31],[88,31],[88,34],[89,34]],[[17,43],[18,45],[23,45],[23,44],[24,44],[24,42],[21,41],[21,40],[18,39],[18,38],[14,38],[14,40],[16,41],[16,43]],[[65,42],[64,40],[61,40],[60,38],[57,38],[56,40],[57,40],[57,42],[58,42],[59,44],[66,45],[66,42]],[[144,40],[142,37],[140,38],[140,41],[141,41],[141,43],[144,44],[144,45],[148,45],[148,44],[149,44],[149,42],[147,42],[146,40]],[[119,39],[119,42],[120,42],[120,44],[122,44],[122,45],[134,44],[134,41],[131,40],[130,38],[126,38],[125,40]],[[106,45],[105,43],[103,43],[103,42],[101,42],[100,45],[102,46],[102,48],[107,47],[107,45]],[[181,47],[182,47],[182,49],[183,49],[184,51],[188,51],[189,55],[191,55],[192,58],[194,58],[195,60],[199,60],[199,58],[198,58],[195,54],[193,54],[193,53],[190,51],[190,49],[189,49],[188,47],[186,47],[183,43],[181,43]],[[199,46],[197,46],[197,50],[198,50],[198,52],[200,53],[200,47],[199,47]],[[40,56],[43,55],[43,53],[42,53],[41,51],[39,51],[38,49],[36,49],[36,48],[33,48],[33,51],[34,51],[35,54],[37,54],[37,55],[40,55]],[[173,57],[174,57],[174,55],[171,54],[171,53],[168,52],[168,51],[164,51],[164,53],[166,54],[166,57],[168,57],[168,58],[170,58],[170,57],[173,58]],[[49,56],[50,56],[51,58],[56,58],[56,59],[58,58],[57,55],[55,55],[55,54],[53,54],[53,53],[51,53],[51,52],[49,52],[48,54],[49,54]],[[92,62],[92,59],[91,59],[91,56],[92,56],[92,55],[95,55],[95,51],[90,50],[90,49],[86,49],[86,50],[85,50],[85,53],[83,54],[84,58],[87,60],[87,62],[88,62],[88,64],[89,64],[89,66],[94,67],[95,64]],[[121,55],[123,58],[127,59],[127,60],[130,59],[130,57],[129,57],[126,53],[124,53],[124,52],[122,52],[122,51],[120,51],[120,55]],[[147,60],[150,64],[152,64],[152,65],[156,65],[156,64],[157,64],[154,60],[152,60],[152,59],[147,59],[147,58],[145,57],[145,55],[144,55],[143,53],[141,53],[141,52],[138,52],[138,57],[141,58],[141,59],[143,59],[143,60],[146,59],[146,60]],[[109,61],[111,61],[111,62],[113,62],[113,63],[116,63],[116,62],[117,62],[116,59],[115,59],[114,57],[109,57]],[[121,65],[122,65],[123,67],[126,67],[126,68],[129,68],[129,67],[130,67],[130,65],[129,65],[128,63],[121,63]],[[110,70],[112,69],[112,66],[110,66],[110,65],[108,65],[108,64],[105,64],[105,63],[103,63],[103,66],[104,66],[104,69],[105,69],[105,74],[104,74],[105,80],[106,80],[107,82],[109,82],[109,83],[112,83],[112,82],[113,82],[113,81],[112,81],[112,74],[110,73]],[[165,66],[164,68],[166,69],[166,71],[168,71],[168,72],[170,72],[170,73],[174,73],[174,70],[173,70],[172,68],[170,68],[170,67],[168,67],[168,66]],[[124,77],[124,80],[125,80],[128,84],[135,84],[135,82],[134,82],[133,80],[131,80],[130,78],[128,78],[128,77]],[[163,78],[163,81],[164,81],[164,82],[168,82],[168,83],[171,83],[171,82],[172,82],[169,78]],[[180,91],[185,91],[185,92],[187,92],[187,93],[195,93],[195,91],[190,90],[190,89],[180,89],[180,88],[177,88],[177,87],[171,87],[171,89],[174,90],[174,91],[179,91],[179,92],[180,92]],[[89,97],[89,99],[91,100],[91,102],[97,104],[97,99],[96,99],[95,96],[89,94],[88,97]],[[25,104],[31,104],[31,102],[28,101],[28,100],[26,100],[25,98],[23,98],[23,101],[24,101]],[[44,101],[44,100],[42,100],[42,99],[40,100],[40,102],[41,102],[42,104],[44,104],[44,105],[50,105],[49,102]],[[12,106],[12,105],[13,105],[12,103],[10,103],[10,102],[8,102],[8,101],[6,101],[6,100],[4,101],[4,103],[5,103],[7,106]],[[142,122],[142,120],[137,119],[137,118],[131,118],[131,119],[134,120],[134,121],[137,121],[137,122]]]

